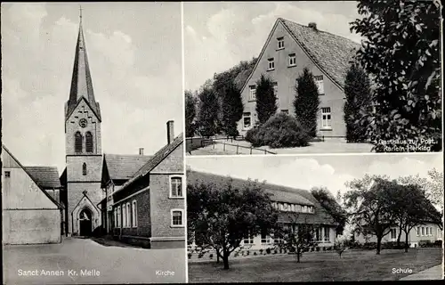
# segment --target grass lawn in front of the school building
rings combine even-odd
[[[230,270],[222,264],[189,263],[190,282],[288,282],[288,281],[396,281],[408,273],[392,273],[392,268],[409,268],[418,273],[440,265],[441,249],[348,251],[342,258],[335,252],[307,253],[300,264],[293,255],[229,260]]]

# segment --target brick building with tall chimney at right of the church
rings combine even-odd
[[[167,122],[167,144],[131,179],[112,191],[113,236],[146,248],[185,248],[183,134],[174,138]]]

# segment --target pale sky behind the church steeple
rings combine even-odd
[[[153,154],[182,125],[180,3],[83,3],[104,153]],[[65,167],[79,4],[2,3],[3,142],[25,166]]]

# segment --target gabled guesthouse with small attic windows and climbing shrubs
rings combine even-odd
[[[304,68],[308,68],[319,87],[319,135],[345,136],[344,79],[349,62],[359,46],[347,38],[317,29],[314,23],[307,27],[279,18],[263,45],[254,69],[250,73],[241,72],[235,78],[244,102],[243,118],[238,124],[239,133],[246,134],[258,121],[255,83],[262,74],[273,80],[278,111],[294,115],[296,78]]]

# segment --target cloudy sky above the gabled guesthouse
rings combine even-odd
[[[214,73],[258,56],[281,17],[360,43],[349,23],[360,18],[355,1],[184,3],[185,89],[198,90]]]

